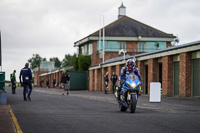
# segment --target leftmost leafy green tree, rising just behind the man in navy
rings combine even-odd
[[[42,58],[40,57],[39,54],[33,54],[33,57],[28,60],[28,62],[31,64],[30,68],[35,69],[35,68],[40,68],[40,63],[42,61]]]

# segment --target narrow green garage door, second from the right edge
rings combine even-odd
[[[179,95],[179,62],[174,62],[174,95]]]

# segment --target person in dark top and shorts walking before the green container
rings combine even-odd
[[[69,94],[69,84],[70,84],[69,81],[70,81],[70,75],[64,69],[61,77],[61,85],[63,88],[62,95],[65,94],[65,91],[67,91],[67,95]]]

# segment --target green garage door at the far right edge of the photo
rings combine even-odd
[[[193,60],[193,96],[199,96],[199,59]]]

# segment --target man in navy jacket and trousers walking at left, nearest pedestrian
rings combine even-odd
[[[27,86],[29,87],[29,92],[28,92],[28,100],[31,101],[31,92],[32,92],[32,85],[31,85],[31,80],[32,80],[32,72],[31,69],[28,68],[29,67],[29,63],[25,64],[25,67],[21,69],[20,71],[20,75],[19,75],[19,80],[20,83],[22,84],[22,86],[24,87],[23,90],[23,95],[24,95],[24,101],[27,101],[26,99],[26,88]],[[23,81],[21,81],[21,78]]]

